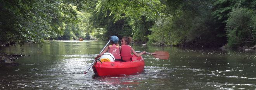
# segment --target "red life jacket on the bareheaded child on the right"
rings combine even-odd
[[[129,46],[129,45],[122,45],[121,57],[122,57],[123,61],[131,61],[131,58],[132,58],[131,46]]]

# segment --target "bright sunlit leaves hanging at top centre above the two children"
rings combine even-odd
[[[136,17],[144,15],[155,17],[160,15],[164,5],[159,0],[99,0],[96,3],[95,12],[105,12],[104,16],[114,15],[114,21],[125,17]],[[108,10],[111,13],[107,13]]]

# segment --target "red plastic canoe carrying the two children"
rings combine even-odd
[[[133,55],[132,61],[102,62],[97,61],[92,69],[97,76],[132,75],[144,70],[145,62],[142,56]]]

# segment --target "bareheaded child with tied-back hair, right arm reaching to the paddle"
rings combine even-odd
[[[146,53],[145,51],[143,51],[142,53],[139,53],[139,54],[136,53],[135,50],[131,46],[129,46],[131,40],[132,40],[131,37],[123,37],[121,40],[120,56],[122,57],[123,61],[131,61],[131,58],[132,58],[131,53],[133,53],[137,57]]]

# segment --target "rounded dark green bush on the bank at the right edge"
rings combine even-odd
[[[235,8],[230,12],[227,20],[228,46],[254,46],[256,44],[256,32],[253,24],[255,13],[247,8]]]

